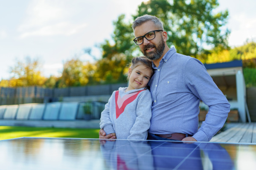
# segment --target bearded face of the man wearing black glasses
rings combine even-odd
[[[146,33],[154,30],[158,30],[154,23],[151,21],[147,21],[143,23],[141,26],[137,26],[134,29],[135,37],[140,37],[145,35]],[[155,32],[155,38],[153,40],[143,39],[143,43],[140,46],[141,52],[145,57],[151,60],[159,59],[163,55],[163,51],[165,48],[165,42],[163,40],[162,31]]]

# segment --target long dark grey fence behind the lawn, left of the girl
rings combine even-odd
[[[0,105],[19,105],[25,103],[57,102],[61,97],[111,95],[127,83],[95,85],[70,88],[0,88]]]

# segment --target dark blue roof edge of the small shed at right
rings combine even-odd
[[[206,69],[243,67],[242,60],[234,60],[230,62],[219,62],[214,64],[204,64]]]

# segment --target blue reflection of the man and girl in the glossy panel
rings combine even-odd
[[[103,140],[100,144],[106,165],[114,170],[235,168],[227,150],[217,143]]]

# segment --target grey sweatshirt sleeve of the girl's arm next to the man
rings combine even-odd
[[[150,127],[150,119],[152,116],[152,98],[151,93],[148,90],[142,91],[138,97],[136,108],[137,118],[127,139],[145,140],[148,136],[148,129]]]

